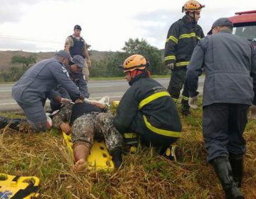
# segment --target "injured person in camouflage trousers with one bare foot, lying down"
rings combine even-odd
[[[84,171],[87,168],[86,160],[94,138],[104,137],[114,167],[119,168],[122,165],[122,135],[114,127],[111,112],[106,111],[105,104],[81,101],[74,105],[65,105],[53,116],[53,127],[66,134],[72,133],[75,171]]]

